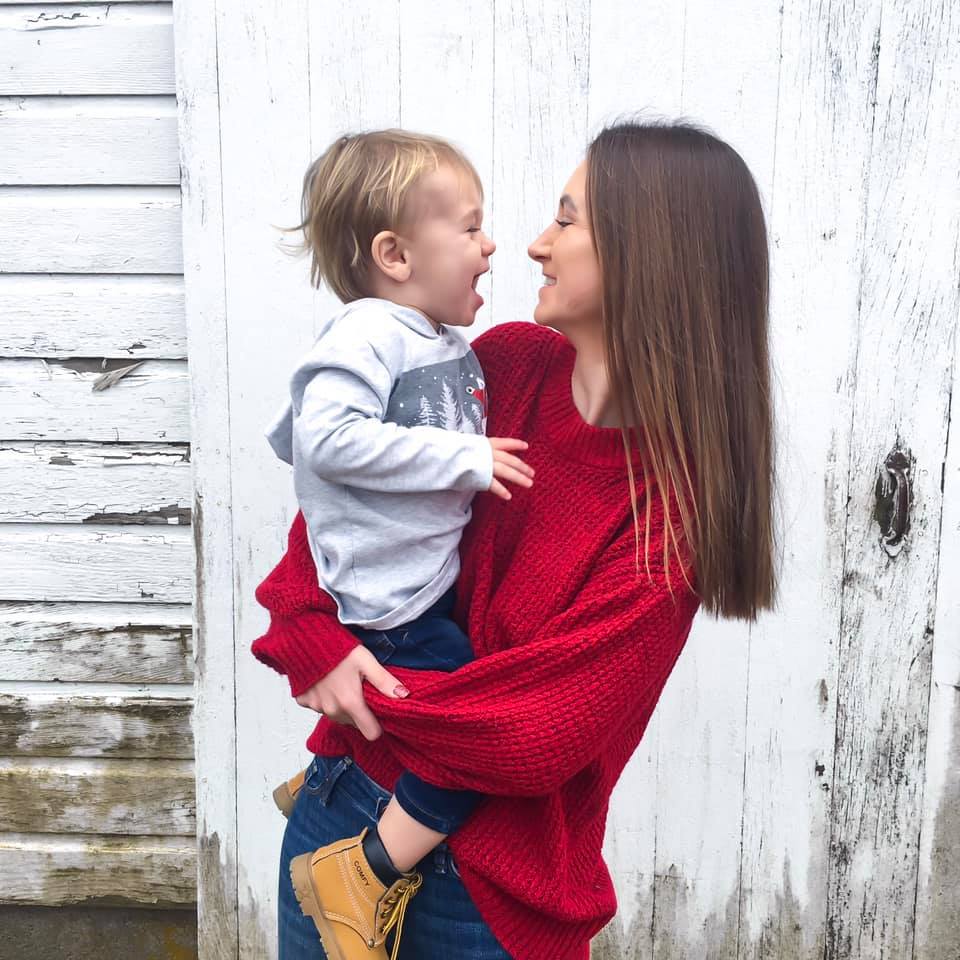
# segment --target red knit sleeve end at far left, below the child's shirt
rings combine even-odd
[[[270,625],[253,642],[253,655],[287,677],[294,697],[322,680],[359,642],[318,585],[302,513],[290,528],[287,552],[257,587],[256,597],[270,612]]]

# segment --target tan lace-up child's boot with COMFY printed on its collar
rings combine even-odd
[[[328,960],[387,960],[383,943],[394,928],[391,960],[396,960],[403,915],[423,883],[411,870],[385,887],[363,852],[366,833],[364,828],[359,837],[338,840],[290,862],[300,909],[317,925]]]

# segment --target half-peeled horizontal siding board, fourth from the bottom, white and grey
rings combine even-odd
[[[159,604],[0,604],[0,680],[189,683],[191,611]]]

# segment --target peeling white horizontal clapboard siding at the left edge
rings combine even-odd
[[[196,896],[178,160],[169,3],[0,2],[4,904]]]

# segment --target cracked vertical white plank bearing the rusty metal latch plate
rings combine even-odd
[[[848,468],[827,960],[920,956],[913,913],[952,383],[948,345],[956,342],[960,314],[958,31],[950,4],[891,0],[874,37],[877,106]],[[896,544],[885,542],[881,526],[892,502],[884,462],[893,450],[908,461],[912,500],[909,530]]]

